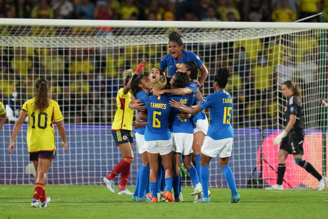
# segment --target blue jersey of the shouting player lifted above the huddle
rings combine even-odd
[[[198,55],[193,52],[182,50],[182,57],[179,60],[172,58],[171,54],[164,55],[159,63],[161,69],[168,68],[171,78],[175,74],[176,70],[180,67],[180,64],[185,61],[195,61],[198,68],[203,65]]]

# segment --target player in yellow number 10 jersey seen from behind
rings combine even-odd
[[[55,158],[56,142],[53,122],[56,122],[58,132],[62,138],[63,151],[67,150],[65,128],[62,123],[63,115],[56,101],[50,99],[51,84],[45,79],[39,79],[35,83],[35,97],[25,101],[20,111],[18,120],[12,131],[8,151],[14,151],[14,141],[19,129],[29,116],[29,128],[27,130],[27,146],[30,161],[35,168],[34,195],[32,207],[47,207],[50,197],[46,198],[46,180],[48,169],[52,159]]]

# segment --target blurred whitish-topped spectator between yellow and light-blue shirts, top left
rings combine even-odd
[[[51,8],[56,19],[74,18],[74,5],[69,0],[52,0]]]

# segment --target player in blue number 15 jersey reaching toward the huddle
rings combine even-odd
[[[236,189],[236,182],[232,170],[228,165],[231,156],[234,131],[230,124],[233,109],[232,97],[224,88],[227,85],[229,71],[227,68],[220,68],[214,76],[214,94],[202,99],[202,94],[198,91],[198,98],[202,102],[195,106],[184,106],[182,102],[171,99],[170,105],[180,109],[181,112],[196,114],[209,108],[211,114],[211,124],[206,134],[200,157],[200,178],[202,182],[203,197],[195,200],[195,203],[210,203],[208,182],[209,163],[213,157],[219,155],[219,166],[226,178],[231,190],[231,200],[229,203],[238,203],[240,195]],[[222,102],[222,99],[226,101]],[[224,112],[224,113],[223,113]],[[223,122],[222,122],[223,121]]]

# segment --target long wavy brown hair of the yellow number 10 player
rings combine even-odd
[[[39,110],[39,112],[43,112],[49,106],[50,88],[51,83],[44,78],[39,79],[35,83],[35,100],[33,104],[33,111]]]

